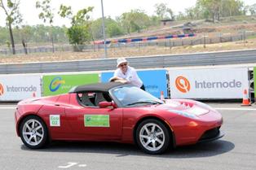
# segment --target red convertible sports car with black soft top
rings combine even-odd
[[[135,143],[146,153],[160,154],[174,146],[223,137],[223,118],[208,105],[185,99],[163,102],[117,82],[21,101],[15,122],[17,135],[32,149],[55,140],[111,141]]]

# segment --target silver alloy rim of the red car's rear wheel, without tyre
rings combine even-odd
[[[38,120],[28,120],[24,123],[22,135],[30,146],[37,146],[42,142],[44,131]]]

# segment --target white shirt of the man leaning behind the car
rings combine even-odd
[[[114,76],[126,79],[126,81],[130,82],[130,84],[136,85],[139,88],[143,85],[143,82],[140,80],[135,68],[130,66],[128,66],[126,74],[122,73],[120,68],[117,68]]]

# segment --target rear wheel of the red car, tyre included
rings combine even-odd
[[[38,116],[28,116],[20,124],[20,137],[25,146],[39,149],[46,146],[46,124]]]

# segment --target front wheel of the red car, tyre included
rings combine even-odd
[[[148,154],[161,154],[170,146],[170,133],[159,120],[143,120],[136,130],[138,146]]]

